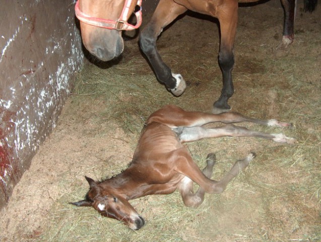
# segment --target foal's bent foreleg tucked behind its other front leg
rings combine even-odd
[[[208,154],[206,158],[207,166],[203,169],[203,174],[211,178],[213,174],[213,166],[216,162],[216,157],[214,153]],[[181,181],[178,189],[182,196],[183,202],[187,207],[198,207],[204,201],[205,190],[201,187],[198,189],[196,193],[193,191],[193,181],[185,176]]]

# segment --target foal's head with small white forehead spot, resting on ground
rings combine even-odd
[[[136,212],[132,205],[116,192],[108,192],[100,183],[87,176],[90,190],[85,200],[71,203],[76,206],[95,208],[101,215],[120,220],[131,229],[138,230],[143,227],[145,220]]]

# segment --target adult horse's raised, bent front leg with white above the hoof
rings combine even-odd
[[[140,34],[140,47],[148,58],[157,80],[175,96],[180,96],[186,88],[180,74],[173,74],[163,62],[156,48],[157,37],[168,24],[187,9],[172,0],[160,0],[151,21]]]

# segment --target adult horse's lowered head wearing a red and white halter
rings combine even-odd
[[[137,24],[127,20],[142,0],[78,0],[75,7],[83,43],[88,51],[101,59],[109,61],[123,51],[121,30],[136,29],[141,25],[141,10],[135,13]]]

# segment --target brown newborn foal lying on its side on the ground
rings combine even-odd
[[[228,125],[211,129],[201,127],[213,122]],[[178,189],[186,206],[197,207],[203,202],[205,193],[223,192],[229,181],[254,158],[254,154],[250,153],[245,159],[236,161],[231,170],[216,181],[211,179],[215,154],[207,156],[207,166],[202,172],[182,143],[222,136],[253,136],[279,143],[295,142],[295,139],[283,134],[267,134],[231,125],[240,122],[291,126],[275,119],[260,120],[235,112],[209,114],[188,112],[173,105],[165,106],[147,119],[131,165],[117,176],[102,182],[86,177],[90,186],[86,199],[72,204],[94,207],[102,215],[123,221],[131,229],[137,230],[145,220],[129,200],[151,194],[170,194]],[[196,193],[193,191],[194,182],[200,185]]]

